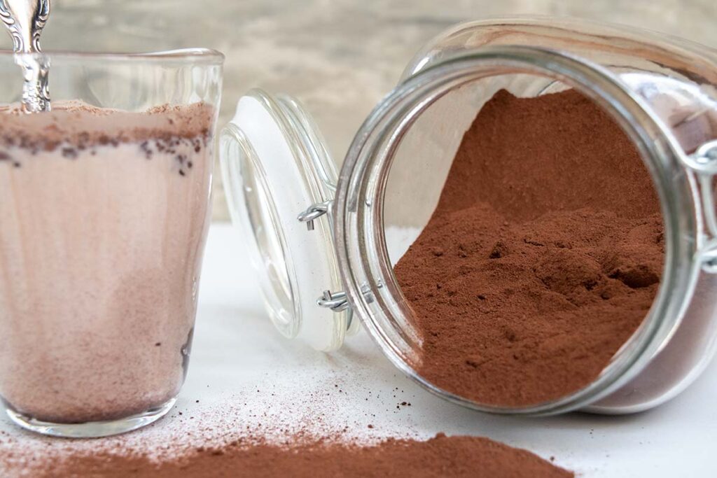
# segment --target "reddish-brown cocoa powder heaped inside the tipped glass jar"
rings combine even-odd
[[[642,322],[663,256],[652,181],[612,118],[574,90],[500,91],[395,267],[424,340],[415,366],[496,406],[574,392]]]

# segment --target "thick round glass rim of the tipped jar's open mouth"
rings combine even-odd
[[[554,401],[530,406],[488,406],[427,381],[414,367],[417,337],[412,312],[394,276],[384,234],[384,195],[393,153],[404,133],[446,92],[480,78],[528,74],[553,78],[593,100],[622,127],[650,172],[665,227],[663,277],[642,325],[599,377]],[[453,54],[417,72],[384,99],[356,134],[339,176],[334,236],[346,292],[371,337],[394,365],[449,401],[505,414],[556,414],[594,403],[630,381],[678,325],[698,272],[697,229],[684,153],[650,106],[617,75],[568,54],[534,47],[482,47]],[[366,287],[371,300],[366,299]]]

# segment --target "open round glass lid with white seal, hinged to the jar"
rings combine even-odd
[[[333,247],[336,167],[312,118],[291,97],[252,90],[219,148],[229,212],[250,236],[272,322],[316,350],[341,347],[359,325],[341,292]]]

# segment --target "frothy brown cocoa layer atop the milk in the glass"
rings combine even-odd
[[[161,105],[135,113],[57,102],[47,113],[22,113],[16,106],[0,108],[0,147],[54,150],[70,146],[80,150],[94,145],[171,138],[207,137],[214,107],[203,102]]]

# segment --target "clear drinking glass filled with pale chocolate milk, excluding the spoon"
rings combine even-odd
[[[186,376],[223,56],[48,53],[19,112],[0,53],[0,398],[55,436],[137,429]]]

